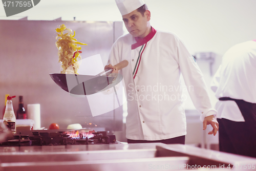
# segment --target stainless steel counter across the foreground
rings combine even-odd
[[[234,170],[248,170],[248,164],[256,165],[256,158],[162,143],[0,147],[0,160],[3,171],[186,170],[199,166],[227,170],[228,164],[231,168],[238,164]]]

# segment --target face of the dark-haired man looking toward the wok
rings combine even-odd
[[[134,37],[144,38],[150,33],[150,11],[146,10],[144,16],[137,10],[123,15],[124,25]]]

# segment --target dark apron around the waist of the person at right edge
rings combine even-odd
[[[256,103],[221,97],[237,103],[245,122],[218,119],[219,145],[221,152],[256,157]]]

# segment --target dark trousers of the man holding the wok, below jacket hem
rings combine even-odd
[[[154,142],[161,142],[164,144],[185,144],[185,136],[165,139],[165,140],[156,140],[156,141],[147,141],[147,140],[131,140],[127,139],[128,143],[154,143]]]

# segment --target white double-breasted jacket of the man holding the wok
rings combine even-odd
[[[121,70],[127,95],[126,138],[162,140],[186,135],[181,73],[186,90],[201,113],[200,119],[217,114],[211,108],[206,84],[194,57],[175,34],[157,31],[143,45],[145,49],[134,79],[133,71],[142,51],[142,46],[131,49],[135,43],[131,34],[119,37],[109,60],[112,65],[124,59],[129,61]]]

